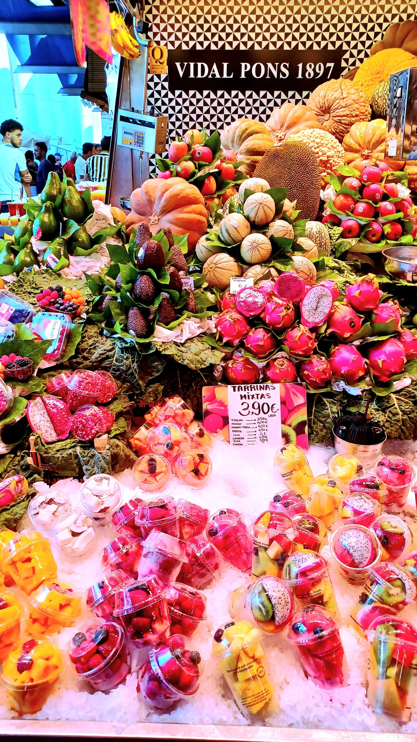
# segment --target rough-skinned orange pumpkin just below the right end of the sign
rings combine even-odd
[[[339,142],[353,124],[369,121],[371,117],[362,86],[343,78],[327,80],[319,85],[310,93],[307,103],[321,128],[333,134]]]

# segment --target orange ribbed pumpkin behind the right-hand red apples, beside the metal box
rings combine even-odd
[[[353,124],[342,142],[347,165],[361,171],[364,161],[384,160],[386,135],[387,122],[384,119]],[[404,162],[390,159],[385,162],[390,170],[398,171],[404,168]]]

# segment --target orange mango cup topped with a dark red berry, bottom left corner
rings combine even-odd
[[[19,716],[40,711],[61,669],[61,652],[48,637],[21,640],[1,668],[10,709]]]

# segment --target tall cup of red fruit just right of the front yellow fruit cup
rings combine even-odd
[[[338,623],[320,605],[306,605],[292,617],[288,632],[306,677],[326,690],[347,684],[344,648]]]

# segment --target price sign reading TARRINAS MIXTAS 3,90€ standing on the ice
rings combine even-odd
[[[203,387],[203,424],[233,446],[297,443],[308,449],[303,384]]]

